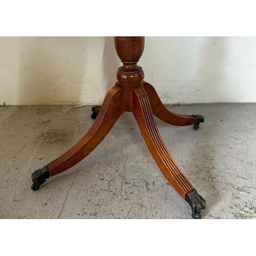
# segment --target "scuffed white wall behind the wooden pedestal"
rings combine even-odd
[[[256,37],[146,37],[139,61],[163,103],[256,102]],[[113,37],[0,37],[0,104],[100,104]]]

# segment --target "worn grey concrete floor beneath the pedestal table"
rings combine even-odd
[[[205,122],[177,127],[156,118],[182,172],[206,199],[202,219],[256,219],[256,104],[168,105]],[[188,203],[162,175],[132,113],[66,172],[33,191],[31,173],[90,129],[91,106],[0,108],[1,219],[191,219]]]

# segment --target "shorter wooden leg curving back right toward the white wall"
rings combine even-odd
[[[145,89],[148,98],[150,99],[150,103],[152,106],[153,114],[161,119],[162,121],[177,125],[177,126],[186,126],[192,124],[195,125],[195,129],[199,128],[199,123],[204,121],[204,117],[202,116],[187,116],[187,115],[180,115],[173,112],[168,111],[162,101],[160,100],[155,88],[148,82],[143,82],[143,88]]]

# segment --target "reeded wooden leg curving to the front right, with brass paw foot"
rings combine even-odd
[[[155,123],[150,100],[146,91],[141,87],[133,89],[133,114],[138,122],[147,147],[163,175],[190,204],[193,218],[199,219],[201,217],[201,209],[205,208],[205,200],[198,195],[197,190],[181,172],[164,145]]]

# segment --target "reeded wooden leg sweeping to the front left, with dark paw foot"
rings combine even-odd
[[[119,86],[114,86],[106,95],[101,111],[87,134],[65,154],[32,174],[33,190],[37,190],[50,176],[64,172],[80,162],[99,145],[124,112],[122,91]]]

